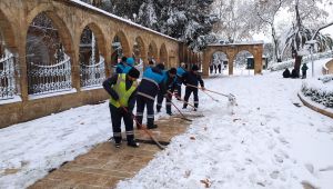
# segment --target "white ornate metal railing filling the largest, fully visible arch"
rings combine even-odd
[[[29,63],[28,93],[44,94],[72,89],[71,60],[64,54],[63,60],[52,66]]]

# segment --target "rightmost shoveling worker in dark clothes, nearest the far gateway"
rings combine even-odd
[[[198,66],[194,64],[191,71],[183,74],[183,83],[186,86],[184,100],[188,102],[191,93],[193,92],[194,107],[195,107],[194,111],[196,111],[196,108],[199,106],[199,97],[198,97],[199,82],[202,90],[205,90],[203,80],[201,79],[201,76],[198,73],[198,70],[199,70]],[[184,103],[183,109],[185,109],[188,103]]]

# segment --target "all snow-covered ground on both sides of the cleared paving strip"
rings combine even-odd
[[[316,74],[321,63],[315,63]],[[208,89],[235,94],[238,107],[232,110],[224,97],[212,94],[220,100],[214,102],[200,92],[205,117],[118,187],[289,189],[305,181],[333,188],[333,120],[293,105],[302,105],[296,97],[301,84],[301,79],[282,79],[281,72],[205,80]],[[27,187],[111,133],[108,102],[1,129],[0,188]]]

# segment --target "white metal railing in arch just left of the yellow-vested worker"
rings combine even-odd
[[[100,57],[98,63],[94,60],[90,60],[89,64],[80,63],[80,71],[82,88],[101,86],[105,80],[104,58]]]

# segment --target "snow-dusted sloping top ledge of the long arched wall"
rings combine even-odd
[[[125,22],[125,23],[128,23],[128,24],[131,24],[131,26],[133,26],[133,27],[143,29],[143,30],[147,30],[147,31],[149,31],[149,32],[153,32],[153,33],[155,33],[155,34],[159,34],[159,36],[162,36],[162,37],[164,37],[164,38],[168,38],[168,39],[171,39],[171,40],[174,40],[174,41],[178,41],[178,42],[179,42],[179,40],[175,39],[175,38],[171,38],[170,36],[160,33],[160,32],[154,31],[154,30],[152,30],[152,29],[150,29],[150,28],[142,27],[141,24],[134,23],[134,22],[132,22],[132,21],[130,21],[130,20],[123,19],[123,18],[121,18],[121,17],[118,17],[118,16],[115,16],[115,14],[112,14],[112,13],[110,13],[110,12],[107,12],[107,11],[104,11],[104,10],[102,10],[102,9],[99,9],[99,8],[95,8],[95,7],[93,7],[93,6],[88,4],[88,3],[85,3],[85,2],[82,2],[82,1],[80,1],[80,0],[70,0],[70,2],[75,3],[75,4],[79,4],[79,6],[82,6],[82,7],[84,7],[84,8],[91,9],[91,10],[94,10],[94,11],[97,11],[97,12],[99,12],[99,13],[102,13],[102,14],[104,14],[104,16],[107,16],[107,17],[110,17],[110,18],[112,18],[112,19],[121,20],[121,21],[123,21],[123,22]]]

